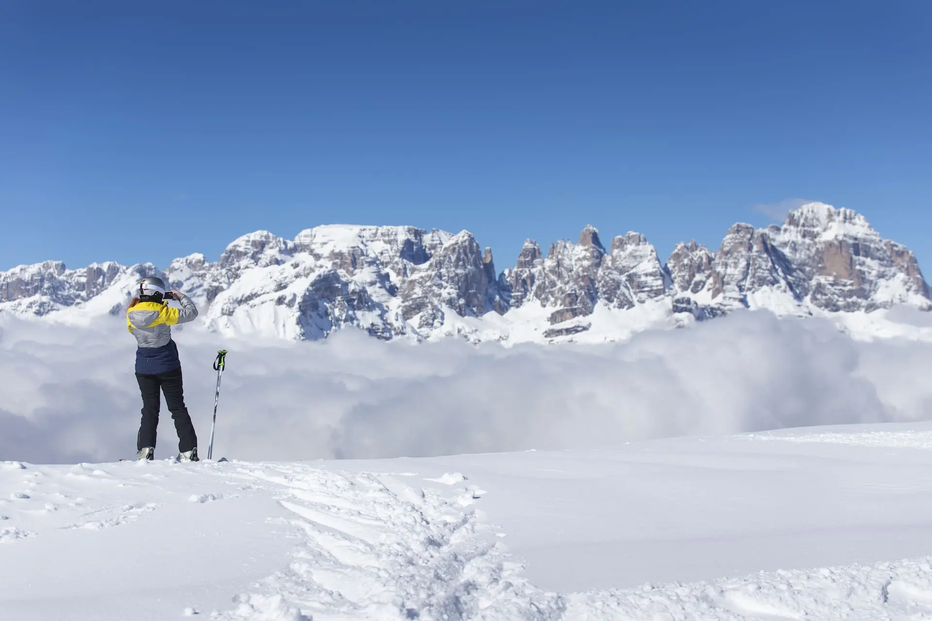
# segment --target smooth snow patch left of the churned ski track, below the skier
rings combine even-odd
[[[0,463],[0,619],[224,610],[274,571],[294,543],[266,524],[267,496],[224,465],[171,462]]]

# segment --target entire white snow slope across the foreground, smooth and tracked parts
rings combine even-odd
[[[0,618],[932,618],[932,424],[0,463]]]

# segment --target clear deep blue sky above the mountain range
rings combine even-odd
[[[857,209],[932,268],[932,2],[0,2],[0,269]],[[766,209],[764,209],[766,210]]]

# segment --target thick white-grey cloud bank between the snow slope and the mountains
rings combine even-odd
[[[0,323],[0,460],[135,452],[135,340],[120,320]],[[175,329],[201,448],[229,350],[215,456],[392,457],[932,418],[932,344],[857,342],[817,319],[735,313],[621,344],[248,342]],[[157,457],[177,452],[162,406]]]

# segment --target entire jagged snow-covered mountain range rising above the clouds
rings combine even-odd
[[[643,235],[606,245],[586,226],[577,243],[558,241],[546,254],[528,240],[500,273],[467,231],[323,225],[293,240],[257,231],[216,263],[192,254],[164,271],[150,263],[16,267],[0,273],[0,314],[120,315],[133,284],[151,275],[190,294],[214,331],[296,340],[351,327],[385,340],[605,341],[740,308],[833,317],[932,309],[911,250],[851,209],[810,203],[782,226],[734,224],[719,250],[679,244],[666,263]]]

